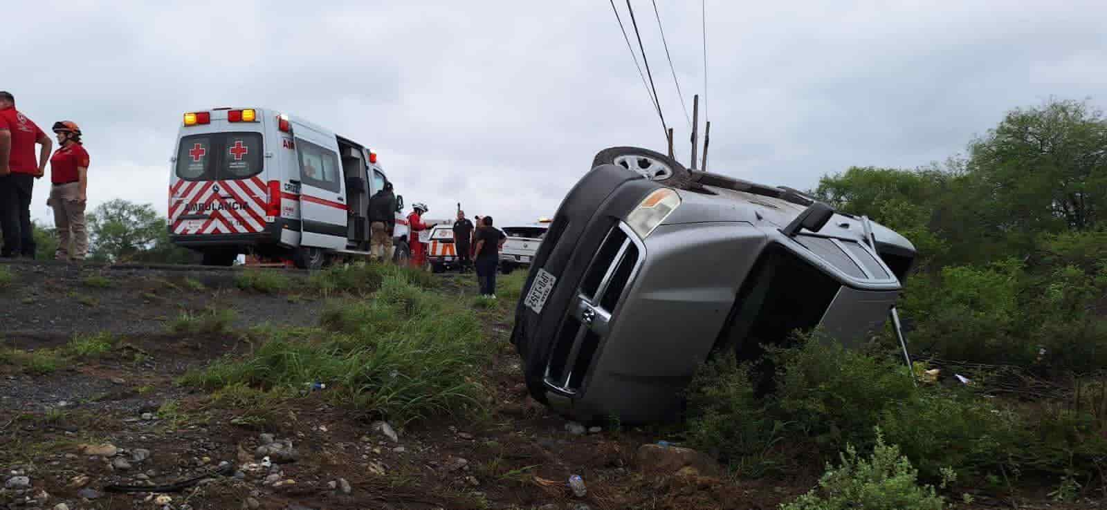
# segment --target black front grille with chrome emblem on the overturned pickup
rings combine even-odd
[[[611,315],[641,261],[640,242],[628,227],[617,223],[584,270],[561,321],[546,366],[546,384],[566,394],[580,389],[592,357],[610,331]]]

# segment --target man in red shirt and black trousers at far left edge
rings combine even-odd
[[[34,144],[42,145],[37,162]],[[34,258],[31,191],[46,170],[53,142],[27,115],[15,110],[15,97],[0,92],[0,229],[3,257]]]

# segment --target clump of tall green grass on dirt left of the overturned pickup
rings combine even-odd
[[[490,347],[476,314],[404,270],[366,268],[353,271],[381,275],[372,299],[331,302],[321,329],[277,333],[245,358],[220,360],[183,383],[268,391],[320,381],[337,404],[400,424],[480,409],[478,373]]]

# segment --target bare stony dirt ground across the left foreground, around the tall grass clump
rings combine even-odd
[[[237,289],[229,271],[4,266],[13,279],[0,289],[3,352],[33,356],[76,333],[107,331],[122,341],[52,370],[0,357],[0,507],[770,509],[807,491],[821,472],[811,466],[772,480],[648,472],[635,452],[664,437],[640,429],[573,434],[529,399],[507,341],[509,313],[487,329],[499,348],[488,367],[492,412],[484,419],[422,423],[393,440],[364,415],[331,405],[325,388],[306,388],[273,408],[218,404],[175,381],[247,351],[248,341],[234,332],[170,333],[167,324],[183,311],[214,306],[237,311],[234,331],[315,325],[324,300],[307,291],[302,274],[293,273],[300,283],[291,291],[269,295]],[[445,289],[476,293],[465,284]],[[259,451],[275,441],[283,443],[279,451]],[[583,478],[586,496],[572,495],[571,475]],[[142,488],[197,478],[183,488]],[[118,492],[112,485],[138,488]],[[982,498],[974,507],[1010,503]]]

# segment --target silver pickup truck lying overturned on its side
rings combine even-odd
[[[567,417],[679,417],[713,352],[761,355],[794,330],[845,344],[883,326],[906,238],[799,191],[600,152],[535,256],[511,342],[530,395]]]

